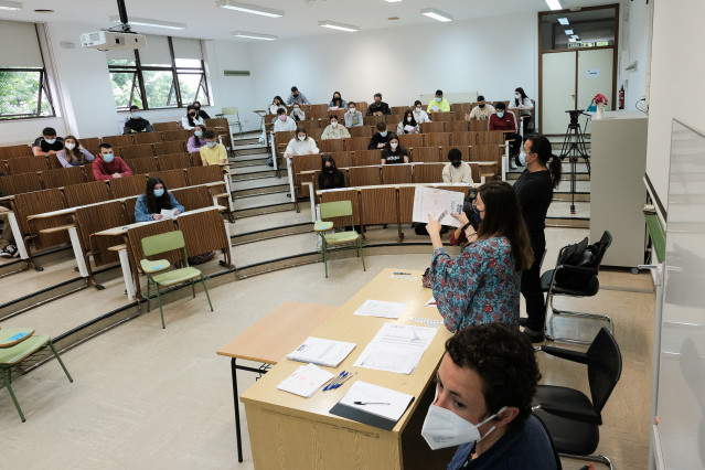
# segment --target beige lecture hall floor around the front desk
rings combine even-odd
[[[555,263],[560,246],[587,232],[547,229],[544,267]],[[237,463],[229,361],[215,351],[284,301],[340,306],[381,269],[424,269],[429,257],[368,256],[366,273],[356,258],[334,260],[329,279],[323,278],[321,264],[255,276],[211,289],[215,312],[207,310],[199,293],[195,300],[186,297],[165,307],[167,330],[152,310],[90,339],[63,354],[73,384],[55,361],[13,384],[26,423],[20,421],[7,391],[0,389],[2,467],[252,469],[246,426],[245,461]],[[13,277],[3,279],[3,289],[12,288]],[[605,408],[598,450],[619,469],[644,469],[655,295],[648,274],[602,271],[600,284],[596,298],[569,302],[612,316],[624,359],[621,382]],[[60,305],[90,306],[96,293],[84,290],[72,296],[71,303],[51,302],[32,316],[61,314]],[[93,307],[104,312],[122,301],[102,298]],[[2,327],[22,324],[22,320],[23,314]],[[583,366],[542,353],[538,361],[545,383],[587,392]],[[245,389],[255,374],[242,373],[239,378]],[[581,463],[565,461],[564,466],[577,469]]]

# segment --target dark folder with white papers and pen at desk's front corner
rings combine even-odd
[[[391,430],[414,396],[366,382],[355,382],[330,413]]]

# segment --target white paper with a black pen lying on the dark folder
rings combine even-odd
[[[414,396],[412,395],[356,381],[339,403],[350,406],[351,408],[398,421],[413,399]],[[388,405],[355,405],[355,402],[373,404],[388,403]]]

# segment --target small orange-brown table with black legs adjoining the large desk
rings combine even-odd
[[[337,309],[320,303],[286,302],[217,351],[218,355],[231,357],[238,462],[243,461],[243,440],[239,428],[237,370],[267,373],[270,365],[278,363],[298,348],[311,331],[328,320]],[[238,365],[238,359],[259,362],[263,365],[257,368]]]

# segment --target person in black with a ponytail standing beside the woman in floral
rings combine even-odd
[[[520,156],[526,170],[514,183],[531,246],[534,263],[522,273],[522,295],[526,301],[526,325],[524,333],[538,343],[544,340],[546,305],[541,289],[541,260],[546,249],[544,235],[546,212],[553,199],[553,190],[560,182],[560,159],[552,153],[551,142],[544,136],[532,136],[524,142],[524,154]]]

